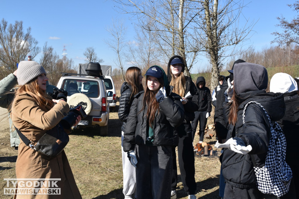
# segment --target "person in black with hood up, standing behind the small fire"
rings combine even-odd
[[[205,135],[205,127],[207,125],[208,117],[212,111],[211,91],[205,87],[205,78],[198,77],[196,80],[196,89],[198,92],[198,110],[194,112],[195,118],[191,122],[192,125],[192,140],[194,140],[197,124],[199,121],[199,143],[202,143]]]

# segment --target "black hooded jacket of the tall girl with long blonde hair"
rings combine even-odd
[[[175,56],[170,58],[170,60],[168,62],[168,66],[167,66],[167,78],[168,78],[169,83],[172,79],[171,74],[170,74],[170,70],[171,70],[170,69],[170,62],[174,58],[180,58],[181,60],[183,60],[183,58],[179,55],[175,55]],[[183,65],[181,72],[184,72],[184,70],[185,70],[185,66]],[[198,100],[197,100],[198,99],[198,92],[197,92],[195,84],[192,81],[192,78],[187,77],[187,76],[185,76],[185,78],[186,78],[186,86],[185,86],[184,95],[186,95],[190,91],[190,94],[193,96],[193,97],[187,98],[188,102],[183,105],[184,110],[185,110],[185,120],[186,121],[193,121],[194,118],[195,118],[194,112],[196,110],[198,110]]]

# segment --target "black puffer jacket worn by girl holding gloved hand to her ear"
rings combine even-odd
[[[135,144],[143,145],[146,141],[149,124],[147,124],[147,114],[142,110],[144,91],[134,96],[129,116],[123,135],[123,151],[128,152],[135,149]],[[155,113],[154,146],[176,146],[178,144],[178,135],[176,127],[184,121],[184,108],[180,101],[180,96],[175,93],[167,94],[167,98],[159,103],[158,110]]]

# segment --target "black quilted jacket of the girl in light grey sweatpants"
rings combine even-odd
[[[127,117],[130,112],[130,107],[133,102],[133,96],[130,100],[130,97],[132,95],[131,85],[129,85],[127,82],[123,82],[120,88],[120,98],[119,98],[119,109],[118,109],[118,118],[120,121],[123,122],[123,125],[121,126],[121,130],[125,131],[126,121]]]

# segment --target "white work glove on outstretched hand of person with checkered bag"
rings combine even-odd
[[[247,154],[252,150],[251,145],[246,146],[245,142],[241,138],[230,138],[224,144],[219,144],[219,148],[228,148],[236,153]]]

